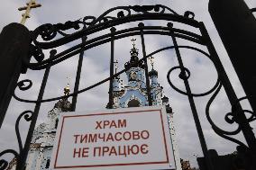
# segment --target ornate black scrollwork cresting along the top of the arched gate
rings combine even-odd
[[[117,12],[116,15],[114,15],[115,12]],[[123,17],[130,17],[132,15],[142,14],[142,13],[143,14],[169,13],[173,15],[178,15],[178,13],[170,9],[168,6],[161,5],[161,4],[142,5],[142,6],[140,5],[118,6],[118,7],[114,7],[107,10],[105,13],[101,14],[97,18],[95,16],[86,16],[74,22],[69,21],[69,22],[57,23],[57,24],[51,24],[51,23],[43,24],[40,27],[36,28],[34,31],[32,31],[32,40],[36,46],[40,46],[41,43],[37,41],[37,38],[39,36],[44,41],[53,40],[58,33],[64,37],[69,37],[71,34],[66,33],[64,31],[70,31],[70,30],[78,31],[79,29],[84,31],[91,31],[93,27],[97,28],[102,26],[103,24],[107,25],[106,22],[111,22],[114,20],[122,19]],[[184,17],[187,17],[187,18],[193,19],[194,16],[195,14],[192,12],[186,12],[184,14]],[[72,39],[69,39],[69,41],[70,40]]]

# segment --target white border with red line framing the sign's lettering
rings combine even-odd
[[[157,115],[157,113],[159,115]],[[122,116],[129,115],[131,117],[134,117],[134,116],[138,116],[140,114],[143,114],[143,115],[141,115],[143,117],[145,117],[145,116],[149,117],[149,115],[159,116],[160,123],[161,123],[161,130],[162,130],[161,132],[162,132],[164,148],[165,148],[165,151],[164,151],[165,152],[164,154],[166,156],[165,160],[161,160],[161,161],[150,161],[149,160],[147,162],[145,162],[145,161],[125,162],[124,161],[123,163],[121,161],[121,163],[115,162],[112,164],[76,165],[76,166],[74,166],[74,165],[70,165],[70,166],[64,165],[63,166],[63,165],[61,165],[61,163],[59,163],[59,162],[61,162],[61,161],[59,161],[61,159],[61,158],[59,158],[59,156],[60,157],[65,156],[65,154],[63,154],[63,152],[65,153],[65,151],[63,151],[63,149],[61,150],[60,145],[64,145],[63,142],[64,143],[66,142],[66,141],[63,141],[64,137],[62,137],[64,134],[63,130],[65,129],[66,121],[69,122],[71,119],[82,119],[82,118],[87,118],[87,120],[89,121],[89,119],[95,119],[93,117],[97,117],[97,118],[105,117],[105,119],[106,119],[109,116],[115,116],[115,117],[119,116],[120,117],[120,115],[122,115]],[[55,142],[54,142],[55,145],[53,148],[53,152],[52,152],[52,156],[51,156],[52,158],[50,161],[50,166],[53,170],[57,170],[57,169],[58,170],[59,169],[65,169],[65,170],[69,170],[69,169],[75,169],[75,170],[80,170],[80,169],[87,169],[87,170],[91,170],[91,169],[94,169],[94,170],[97,170],[97,169],[100,169],[100,170],[125,169],[126,170],[127,169],[127,170],[130,170],[131,169],[132,170],[134,168],[137,170],[175,169],[175,158],[174,158],[174,152],[173,152],[173,147],[172,147],[171,135],[170,135],[170,131],[169,131],[169,121],[167,118],[165,106],[146,106],[146,107],[121,108],[121,109],[112,109],[112,110],[103,110],[103,111],[87,111],[87,112],[65,112],[65,113],[61,112],[60,115],[61,116],[59,119],[59,126],[57,129],[56,138],[55,138]],[[145,117],[145,120],[146,119],[147,118]],[[62,141],[61,141],[61,139],[62,139]],[[142,146],[141,146],[141,150],[142,150]],[[75,153],[75,151],[74,151],[74,153]],[[62,161],[62,162],[65,162],[65,161]],[[65,164],[66,164],[66,162],[65,162]]]

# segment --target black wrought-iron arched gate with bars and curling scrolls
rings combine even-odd
[[[244,157],[244,159],[253,160],[253,157],[255,157],[255,153],[256,153],[255,152],[256,139],[251,130],[250,122],[255,121],[255,113],[242,109],[240,101],[246,99],[246,97],[243,97],[240,99],[237,98],[233,90],[233,87],[228,79],[228,76],[224,71],[224,67],[215,51],[213,43],[206,31],[206,27],[204,23],[197,22],[194,19],[194,16],[195,16],[194,13],[188,12],[188,11],[184,13],[184,15],[180,15],[174,12],[173,10],[169,9],[169,7],[161,4],[144,5],[144,6],[139,6],[139,5],[119,6],[119,7],[114,7],[112,9],[107,10],[105,13],[101,14],[97,18],[94,16],[86,16],[75,22],[43,24],[37,29],[35,29],[34,31],[30,31],[30,32],[26,31],[26,29],[24,28],[23,30],[20,30],[20,31],[23,31],[23,35],[24,35],[23,37],[20,38],[20,40],[23,40],[24,54],[22,54],[23,58],[15,60],[15,64],[13,67],[10,67],[10,68],[5,67],[9,71],[10,69],[13,69],[14,77],[11,79],[6,79],[5,81],[5,84],[8,87],[6,90],[7,94],[3,93],[2,95],[1,93],[1,96],[3,96],[1,99],[1,115],[0,115],[1,124],[4,121],[5,112],[8,108],[9,101],[12,96],[16,100],[22,103],[35,103],[35,107],[33,111],[22,112],[17,118],[16,124],[15,124],[15,133],[19,143],[19,150],[15,151],[14,149],[7,149],[0,153],[0,157],[4,156],[5,154],[10,154],[10,153],[13,154],[14,157],[16,157],[17,159],[17,169],[23,169],[25,165],[26,157],[28,155],[29,147],[31,144],[32,133],[33,133],[33,130],[35,129],[35,124],[41,108],[41,103],[56,101],[59,99],[63,99],[65,97],[72,96],[72,111],[75,111],[78,94],[88,91],[96,87],[97,85],[102,85],[106,82],[109,82],[109,104],[108,105],[109,105],[109,108],[111,109],[111,106],[113,105],[113,100],[112,100],[113,99],[113,93],[112,93],[113,78],[115,76],[121,75],[123,72],[129,69],[129,67],[127,67],[122,71],[114,74],[114,40],[120,40],[125,37],[131,37],[136,35],[136,36],[140,36],[142,40],[142,56],[143,56],[142,60],[145,63],[146,86],[147,86],[147,94],[148,94],[150,105],[152,104],[152,102],[151,102],[151,94],[150,94],[151,91],[150,91],[150,80],[148,76],[147,58],[159,53],[160,51],[164,51],[168,49],[174,49],[176,51],[178,66],[172,67],[169,69],[169,72],[167,74],[167,79],[168,79],[169,85],[173,89],[178,91],[178,93],[180,94],[187,95],[188,101],[191,106],[191,111],[194,117],[194,121],[196,123],[197,134],[201,143],[201,148],[203,150],[204,157],[206,158],[205,160],[206,160],[207,169],[214,170],[215,167],[213,166],[211,158],[209,157],[207,152],[206,140],[200,125],[200,121],[198,119],[196,103],[194,102],[194,98],[200,97],[200,96],[206,96],[206,95],[211,96],[210,100],[206,104],[206,118],[211,124],[213,130],[215,130],[215,133],[223,137],[224,139],[231,140],[234,143],[238,144],[239,153],[242,154],[243,156],[246,156]],[[147,26],[146,24],[143,23],[147,20],[165,21],[166,25]],[[114,28],[118,25],[122,25],[123,23],[138,22],[138,21],[139,22],[141,21],[141,22],[138,24],[138,26],[133,28],[126,28],[124,30],[116,30]],[[183,23],[187,26],[193,27],[194,29],[197,30],[197,32],[200,32],[200,33],[197,34],[192,31],[178,29],[175,26],[176,22]],[[1,36],[5,37],[5,40],[10,40],[11,39],[10,36],[8,37],[6,36],[6,34],[8,34],[8,31],[10,31],[11,33],[14,33],[13,31],[17,27],[22,27],[22,26],[18,24],[9,25],[8,28],[3,30]],[[110,29],[109,33],[105,33],[103,35],[94,37],[93,39],[88,38],[89,35],[99,31],[103,31],[108,28]],[[68,34],[68,33],[65,33],[64,31],[65,32],[75,31],[75,32]],[[144,35],[147,35],[147,34],[168,36],[169,40],[172,41],[172,43],[170,43],[171,45],[169,45],[168,47],[158,49],[154,52],[151,52],[151,54],[147,54],[145,50],[146,44],[144,42]],[[41,39],[42,41],[39,41],[39,39]],[[71,41],[79,40],[79,39],[81,39],[82,42],[78,43],[77,45],[74,45],[69,49],[65,49],[64,51],[61,51],[61,52],[57,52],[57,50],[54,49],[61,45],[64,45]],[[197,43],[201,46],[206,47],[207,51],[203,49],[198,49],[197,47],[178,45],[178,41],[177,41],[178,39],[189,40],[194,43]],[[111,43],[109,77],[96,83],[95,85],[88,86],[87,88],[84,88],[84,89],[78,89],[84,51],[86,51],[87,49],[95,48],[96,46],[100,46],[107,42]],[[16,44],[14,44],[14,46],[15,45]],[[49,58],[44,58],[45,56],[48,56],[46,55],[45,49],[50,49]],[[202,94],[194,94],[193,92],[191,92],[191,88],[188,81],[190,72],[187,69],[187,67],[185,67],[183,64],[182,56],[179,52],[180,49],[196,50],[197,52],[205,55],[207,58],[209,58],[213,62],[215,69],[217,71],[218,77],[215,82],[215,85],[209,91]],[[17,55],[17,52],[14,51],[13,53],[8,53],[7,51],[5,54],[15,56]],[[71,58],[77,54],[79,54],[79,60],[78,60],[76,82],[74,85],[74,92],[72,94],[68,94],[65,96],[63,95],[63,96],[49,98],[49,99],[43,98],[44,89],[47,84],[48,76],[50,74],[50,67],[57,65],[60,62],[66,60],[67,58]],[[3,57],[3,55],[1,57]],[[37,62],[32,63],[31,58],[35,58]],[[8,60],[8,58],[4,58],[3,61],[6,62],[6,60]],[[32,81],[29,79],[25,79],[16,83],[20,73],[21,72],[25,73],[26,69],[45,70],[45,73],[41,82],[41,89],[38,95],[38,99],[36,101],[32,101],[29,99],[22,99],[14,93],[15,88],[19,88],[20,90],[25,91],[32,87]],[[179,78],[182,79],[182,81],[184,82],[186,91],[182,91],[178,89],[178,87],[176,87],[170,81],[169,76],[174,70],[179,70],[180,72]],[[233,123],[238,124],[238,128],[233,131],[225,131],[217,127],[214,121],[211,120],[211,117],[209,114],[210,105],[211,103],[213,103],[213,101],[215,100],[215,96],[219,93],[222,87],[224,88],[224,91],[227,94],[229,101],[232,105],[232,111],[225,115],[225,121],[227,121],[230,124],[233,124]],[[247,118],[244,114],[245,112],[251,114],[251,117]],[[21,119],[30,121],[30,128],[29,128],[24,145],[19,132],[19,122],[21,121]],[[246,139],[247,145],[243,144],[238,139],[232,138],[233,135],[236,135],[240,132],[243,133],[243,136]],[[5,159],[1,159],[0,169],[5,169],[8,166],[8,164],[9,164],[8,161],[6,161]],[[253,167],[249,165],[247,169],[253,169]]]

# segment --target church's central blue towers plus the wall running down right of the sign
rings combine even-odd
[[[123,87],[120,77],[114,78],[114,104],[113,108],[127,108],[127,107],[141,107],[149,106],[146,78],[145,78],[145,66],[143,61],[139,60],[138,49],[134,47],[131,49],[131,59],[125,63],[124,67],[129,68],[126,71],[128,83]],[[151,58],[152,59],[152,58]],[[176,130],[173,122],[173,112],[169,105],[169,98],[163,95],[163,87],[158,82],[158,71],[153,68],[153,62],[151,60],[151,71],[149,72],[150,89],[151,89],[151,101],[152,105],[165,105],[168,113],[169,130],[171,135],[172,147],[175,156],[175,162],[177,170],[181,170],[180,157],[178,153],[178,143],[176,139]],[[146,121],[146,119],[144,120]]]

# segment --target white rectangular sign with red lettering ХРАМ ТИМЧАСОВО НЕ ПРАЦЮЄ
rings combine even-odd
[[[61,115],[52,169],[175,169],[165,107]]]

